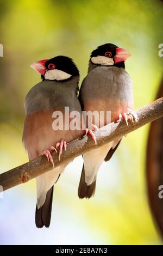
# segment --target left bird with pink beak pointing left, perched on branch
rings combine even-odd
[[[27,93],[24,106],[26,119],[22,142],[28,152],[29,160],[45,155],[52,162],[52,170],[36,177],[37,204],[35,223],[37,228],[49,227],[51,222],[53,185],[68,162],[54,166],[51,150],[59,150],[59,160],[67,142],[80,137],[81,130],[69,129],[69,121],[64,119],[64,127],[54,129],[53,113],[60,111],[65,114],[65,106],[72,111],[82,113],[78,100],[79,70],[73,60],[66,56],[56,56],[51,59],[39,60],[31,67],[41,74],[41,82],[37,83]],[[79,124],[80,125],[80,124]]]

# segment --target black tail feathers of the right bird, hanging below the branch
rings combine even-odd
[[[87,186],[85,182],[85,170],[84,170],[84,164],[82,169],[82,174],[80,177],[79,187],[78,187],[78,197],[79,198],[90,198],[94,196],[96,189],[96,180],[89,186]]]

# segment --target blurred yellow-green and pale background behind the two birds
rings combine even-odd
[[[65,54],[81,74],[90,53],[112,42],[131,52],[126,69],[134,82],[135,108],[153,101],[162,75],[163,3],[156,0],[0,0],[0,173],[28,161],[23,149],[23,101],[40,81],[36,60]],[[148,206],[145,156],[148,126],[123,139],[103,163],[95,197],[79,200],[82,157],[54,187],[49,229],[36,229],[35,180],[0,198],[2,245],[161,244]]]

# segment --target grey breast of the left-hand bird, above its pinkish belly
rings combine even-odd
[[[70,111],[80,110],[77,82],[78,78],[74,77],[64,82],[43,80],[37,83],[26,96],[24,105],[27,115],[36,111],[64,108],[65,106],[69,106]]]

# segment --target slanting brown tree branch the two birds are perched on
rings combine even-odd
[[[71,161],[74,157],[84,154],[86,151],[101,147],[101,145],[111,142],[114,139],[121,138],[122,136],[130,133],[141,126],[146,125],[163,116],[163,97],[150,103],[147,106],[139,108],[136,111],[139,121],[133,124],[129,121],[129,125],[126,122],[111,123],[95,131],[97,146],[95,142],[89,137],[76,139],[70,143],[67,143],[67,151],[63,151],[61,155],[61,161],[58,159],[58,154],[53,151],[52,157],[55,167],[64,163],[65,161]],[[46,156],[40,156],[36,159],[24,163],[8,172],[0,174],[0,185],[3,187],[3,191],[8,190],[11,187],[17,186],[24,182],[27,182],[36,176],[39,176],[48,170],[52,169],[52,163],[47,161]]]

